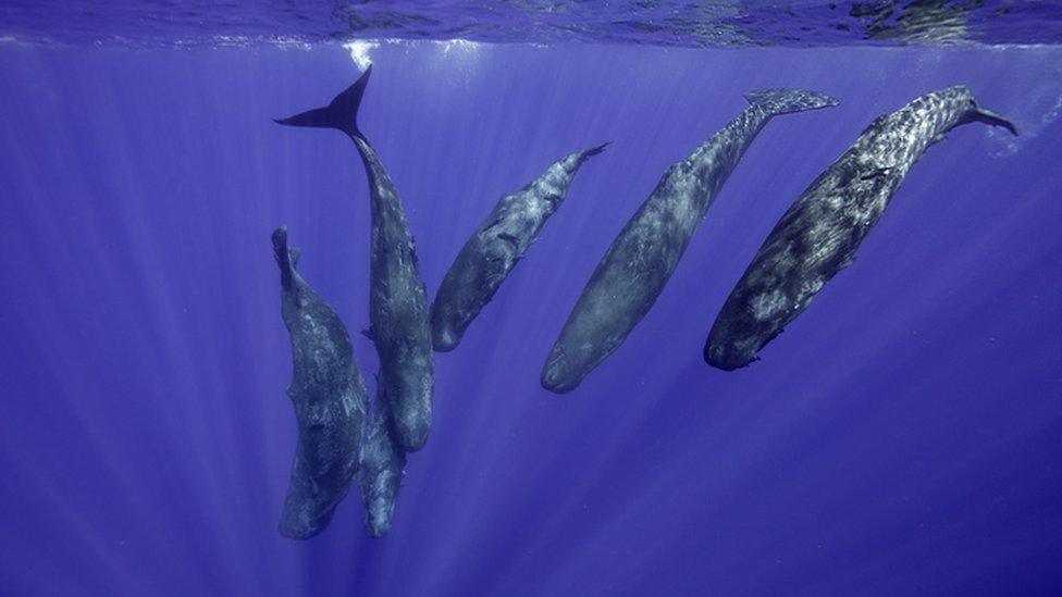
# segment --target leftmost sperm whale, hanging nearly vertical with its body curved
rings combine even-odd
[[[295,270],[287,229],[273,233],[281,270],[281,313],[292,337],[295,372],[287,395],[298,422],[298,446],[280,532],[293,539],[317,535],[347,495],[358,470],[368,391],[350,336],[335,311]]]

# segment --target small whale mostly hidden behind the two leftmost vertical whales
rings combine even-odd
[[[406,452],[391,431],[390,400],[383,395],[383,384],[376,380],[376,399],[365,440],[361,444],[361,502],[366,509],[366,533],[382,537],[391,531],[398,489],[406,476]]]

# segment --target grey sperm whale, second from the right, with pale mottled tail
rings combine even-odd
[[[605,252],[542,370],[542,386],[573,389],[619,348],[675,272],[693,233],[745,149],[771,116],[836,105],[814,91],[745,95],[749,108],[670,166]]]

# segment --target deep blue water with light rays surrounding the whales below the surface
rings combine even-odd
[[[1062,50],[381,42],[359,124],[434,293],[503,194],[576,177],[461,346],[394,526],[351,494],[276,532],[296,430],[270,232],[355,336],[368,192],[338,133],[270,119],[358,74],[338,45],[0,45],[0,593],[970,595],[1062,590]],[[701,349],[775,222],[877,115],[966,84],[856,262],[763,352]],[[539,373],[662,172],[799,86],[654,309],[572,394]],[[371,384],[371,382],[370,382]]]

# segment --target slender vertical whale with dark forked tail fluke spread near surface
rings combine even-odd
[[[413,238],[394,184],[358,129],[358,107],[372,66],[324,108],[276,121],[289,126],[337,128],[354,141],[369,177],[372,213],[369,336],[380,356],[395,437],[405,451],[419,450],[431,428],[434,385],[428,298]]]

